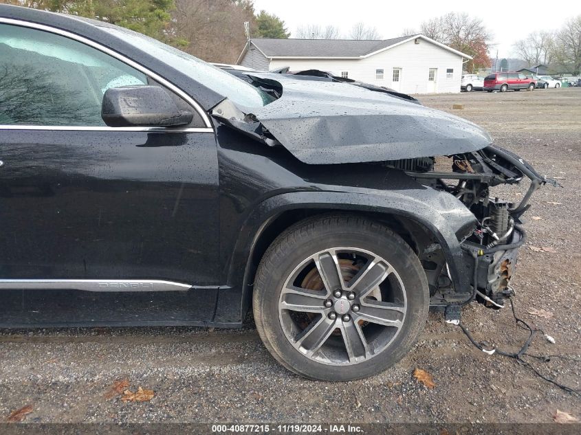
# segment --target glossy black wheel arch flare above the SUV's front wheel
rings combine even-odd
[[[344,212],[377,212],[407,218],[426,227],[437,240],[446,256],[454,289],[465,290],[470,277],[463,267],[461,239],[470,234],[476,225],[474,215],[456,198],[430,188],[417,190],[384,190],[366,192],[355,190],[285,192],[265,199],[254,208],[241,228],[234,252],[237,258],[230,262],[228,282],[243,282],[241,289],[223,291],[222,298],[242,298],[241,315],[250,305],[252,295],[253,265],[251,262],[257,241],[267,227],[289,210],[329,209]],[[239,267],[245,265],[244,269]],[[232,320],[220,317],[217,321]]]

